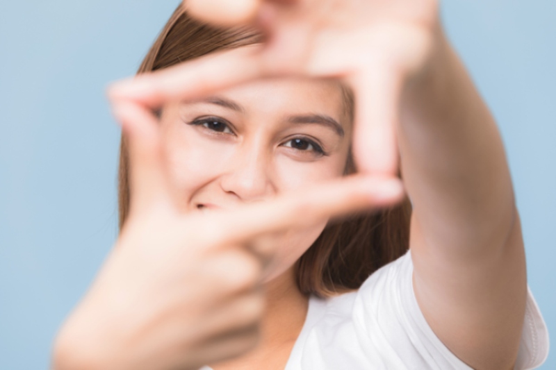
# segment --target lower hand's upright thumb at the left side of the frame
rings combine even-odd
[[[129,148],[132,212],[153,205],[169,205],[170,189],[164,170],[161,133],[156,117],[130,101],[113,101]]]

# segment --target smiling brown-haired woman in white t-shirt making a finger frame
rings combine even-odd
[[[165,71],[111,91],[122,233],[55,367],[541,364],[548,336],[500,137],[436,3],[277,1],[256,14],[264,47],[177,10],[140,69]],[[253,81],[286,74],[343,83]],[[407,201],[327,226],[400,200],[395,143],[411,235]],[[350,152],[359,174],[342,178]]]

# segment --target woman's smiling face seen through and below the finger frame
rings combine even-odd
[[[342,176],[350,148],[343,93],[332,81],[256,81],[202,101],[170,104],[161,122],[186,212],[265,201]],[[291,267],[324,228],[273,235],[265,280]]]

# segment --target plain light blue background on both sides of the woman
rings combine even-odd
[[[135,72],[176,5],[2,0],[2,370],[48,367],[56,329],[113,244],[119,130],[104,88]],[[446,0],[443,17],[500,123],[529,284],[556,333],[556,1]]]

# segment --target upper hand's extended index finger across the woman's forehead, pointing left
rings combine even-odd
[[[200,98],[239,83],[263,77],[261,45],[214,53],[181,65],[142,74],[113,84],[112,99],[133,100],[150,108],[165,101]]]

